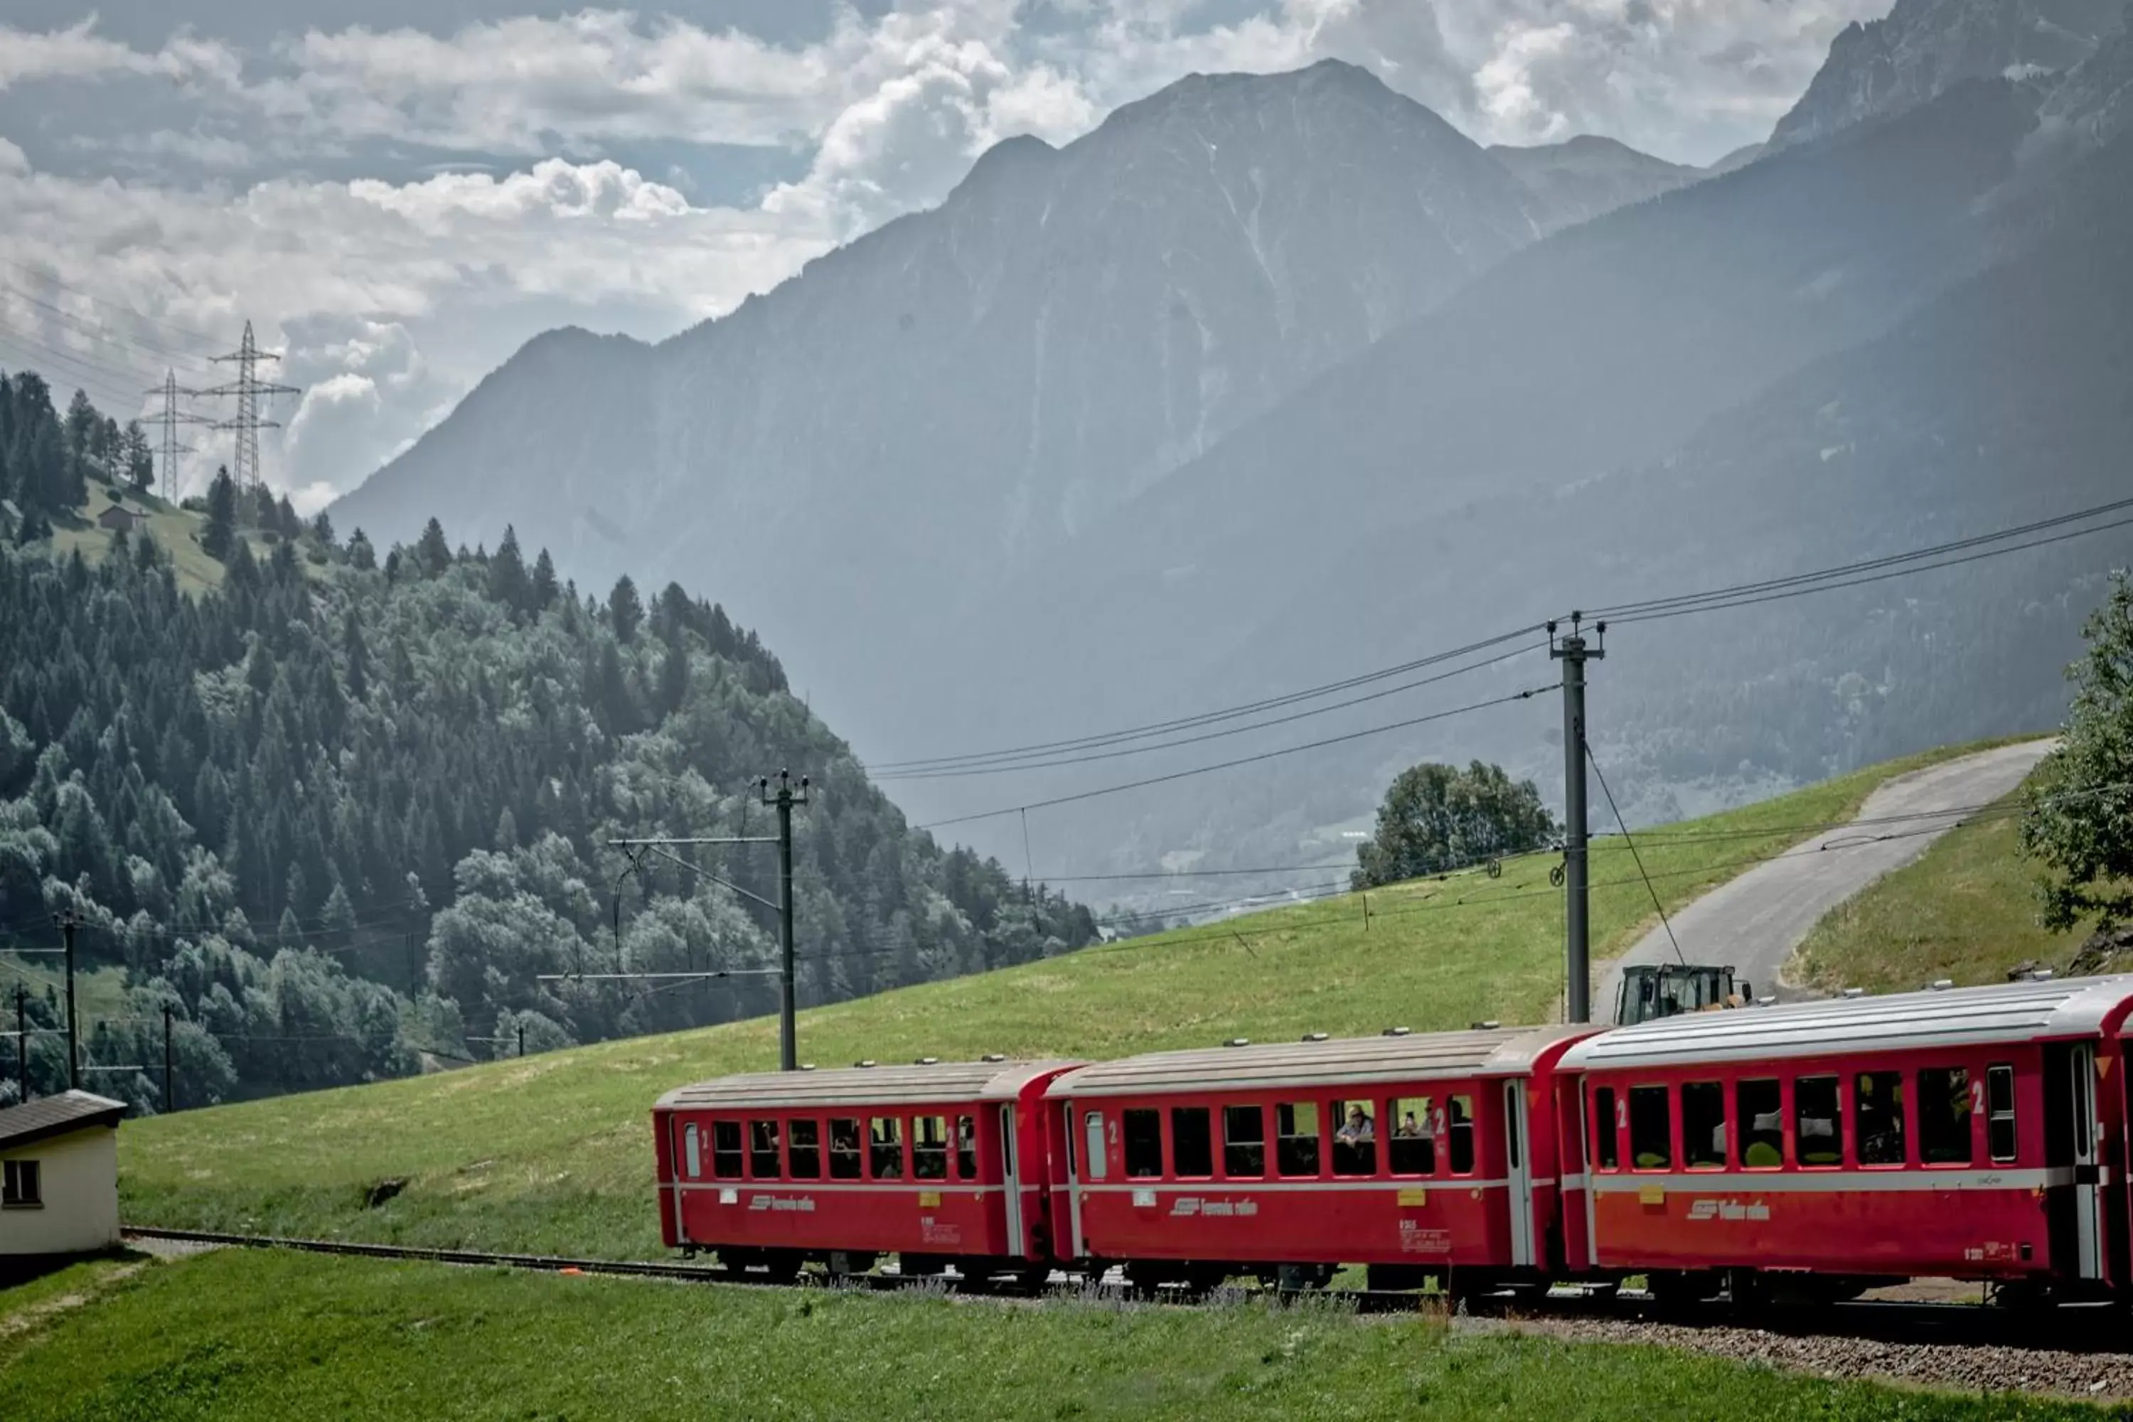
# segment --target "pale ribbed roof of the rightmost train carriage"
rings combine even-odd
[[[2133,974],[1685,1013],[1587,1038],[1563,1053],[1563,1068],[1666,1068],[2097,1036],[2114,1017],[2122,1019],[2129,1004]]]

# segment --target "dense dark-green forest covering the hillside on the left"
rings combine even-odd
[[[23,414],[41,388],[0,394],[9,469],[38,478],[13,450],[49,443],[36,399]],[[1096,938],[1084,906],[911,829],[717,603],[629,578],[584,597],[546,550],[469,552],[435,520],[380,552],[226,475],[203,512],[222,582],[198,597],[145,535],[92,563],[0,531],[0,951],[79,919],[117,1000],[83,1011],[87,1057],[147,1066],[96,1089],[166,1104],[164,1006],[188,1106],[486,1057],[520,1030],[535,1051],[774,1011],[774,979],[542,979],[770,966],[774,915],[725,885],[774,900],[774,849],[631,868],[606,842],[772,831],[755,780],[779,767],[817,791],[796,814],[802,1004]],[[62,1004],[38,979],[26,1011],[53,1028]],[[64,1047],[32,1040],[32,1089],[55,1089]]]

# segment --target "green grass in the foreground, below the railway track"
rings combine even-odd
[[[0,1294],[0,1315],[9,1313]],[[1041,1309],[218,1251],[0,1337],[79,1418],[2099,1418],[1333,1305]]]

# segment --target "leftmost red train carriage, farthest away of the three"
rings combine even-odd
[[[661,1230],[734,1269],[1049,1269],[1041,1096],[1073,1062],[721,1077],[653,1109]]]

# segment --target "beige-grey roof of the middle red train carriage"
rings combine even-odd
[[[1322,1043],[1267,1043],[1150,1051],[1096,1062],[1058,1077],[1045,1096],[1162,1096],[1261,1087],[1327,1087],[1436,1077],[1512,1077],[1531,1070],[1551,1047],[1598,1028],[1480,1028],[1408,1036],[1348,1036]]]

